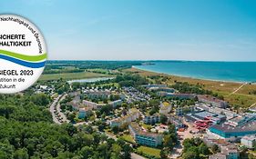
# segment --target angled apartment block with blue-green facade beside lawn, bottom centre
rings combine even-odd
[[[151,147],[157,147],[162,144],[162,134],[145,132],[137,123],[129,124],[128,129],[137,144],[148,145]]]

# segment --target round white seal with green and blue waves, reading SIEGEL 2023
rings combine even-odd
[[[0,94],[26,90],[45,65],[46,43],[36,25],[19,15],[0,15]]]

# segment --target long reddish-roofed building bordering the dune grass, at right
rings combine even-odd
[[[226,108],[229,105],[227,102],[210,95],[198,95],[198,100],[199,102],[211,104],[212,106],[220,108]]]

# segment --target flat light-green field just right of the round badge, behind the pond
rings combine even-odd
[[[57,80],[57,79],[65,79],[65,80],[71,80],[71,79],[83,79],[83,78],[97,78],[97,77],[108,77],[110,75],[104,75],[104,74],[98,74],[98,73],[89,73],[89,72],[83,72],[83,73],[67,73],[67,74],[49,74],[49,75],[42,75],[39,80]]]

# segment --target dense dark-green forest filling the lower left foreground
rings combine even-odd
[[[0,95],[1,159],[130,158],[131,148],[89,125],[53,124],[46,94]]]

